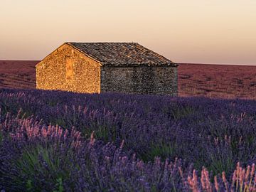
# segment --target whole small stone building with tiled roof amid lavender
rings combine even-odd
[[[64,43],[36,65],[36,88],[176,96],[177,66],[139,43]]]

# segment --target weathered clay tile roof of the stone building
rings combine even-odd
[[[139,43],[67,43],[102,65],[174,65]]]

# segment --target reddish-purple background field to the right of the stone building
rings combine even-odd
[[[178,95],[256,98],[256,66],[180,64]]]

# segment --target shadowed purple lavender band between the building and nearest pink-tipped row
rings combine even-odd
[[[112,142],[145,162],[155,156],[183,167],[205,166],[231,177],[237,162],[256,161],[256,101],[147,95],[82,95],[40,90],[0,90],[1,114],[33,115],[104,144]]]

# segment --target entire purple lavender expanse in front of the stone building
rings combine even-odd
[[[2,191],[256,191],[256,101],[0,90]]]

